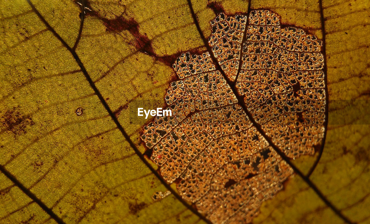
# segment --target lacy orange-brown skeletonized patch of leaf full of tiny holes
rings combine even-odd
[[[325,131],[322,42],[268,10],[219,14],[211,25],[209,45],[233,86],[209,52],[182,54],[165,96],[174,116],[155,117],[141,138],[163,178],[212,223],[249,223],[293,170],[241,104],[287,157],[313,155]]]

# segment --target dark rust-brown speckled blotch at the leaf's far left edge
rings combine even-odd
[[[31,116],[20,113],[19,107],[7,110],[1,123],[1,130],[11,131],[15,136],[26,134],[27,126],[35,124]]]

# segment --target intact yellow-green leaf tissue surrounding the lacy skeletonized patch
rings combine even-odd
[[[32,2],[73,47],[82,1]],[[88,3],[75,51],[122,127],[144,152],[139,135],[145,120],[132,122],[130,105],[155,99],[162,106],[174,76],[169,66],[172,56],[203,51],[202,40],[187,1]],[[217,7],[212,11],[213,1],[192,3],[208,37]],[[226,14],[248,9],[243,0],[216,3]],[[354,99],[369,99],[369,1],[323,0],[325,35],[319,1],[252,0],[251,5],[271,9],[281,15],[282,23],[326,38],[329,99],[348,101],[329,101],[326,143],[311,179],[344,215],[370,223],[369,121],[361,113],[355,113],[357,117],[351,113]],[[29,4],[2,0],[0,17],[0,165],[65,223],[203,223],[173,195],[151,199],[166,188],[135,155],[74,57]],[[82,114],[76,113],[80,107]],[[314,159],[302,156],[296,164],[308,170]],[[55,220],[1,173],[0,223]],[[343,221],[295,177],[262,204],[253,223]]]

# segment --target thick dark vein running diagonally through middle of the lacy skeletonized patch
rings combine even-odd
[[[275,143],[272,141],[272,138],[269,137],[265,131],[263,131],[261,125],[259,123],[256,122],[256,120],[254,119],[254,117],[252,116],[252,114],[249,112],[248,108],[246,107],[246,105],[243,103],[243,99],[242,97],[238,94],[238,92],[236,91],[236,89],[233,87],[233,82],[226,76],[225,72],[221,69],[221,66],[219,65],[217,59],[215,58],[213,52],[212,52],[212,49],[211,49],[211,46],[209,46],[209,43],[207,41],[207,39],[204,37],[204,34],[201,30],[201,27],[199,25],[199,22],[196,18],[196,14],[194,12],[194,8],[192,6],[192,3],[191,3],[191,0],[187,0],[188,1],[188,4],[189,4],[189,9],[190,9],[190,12],[191,12],[191,15],[193,17],[193,20],[194,20],[194,24],[198,30],[198,33],[199,35],[201,36],[202,40],[203,40],[203,43],[204,45],[206,46],[209,54],[211,55],[211,58],[212,58],[212,61],[213,63],[215,63],[216,65],[216,68],[219,69],[219,71],[221,72],[223,78],[226,80],[226,82],[229,84],[230,88],[232,89],[234,95],[236,96],[236,98],[238,99],[238,102],[240,104],[240,106],[243,108],[243,110],[245,111],[245,113],[247,114],[249,120],[253,123],[253,125],[255,126],[255,128],[258,130],[258,132],[263,136],[263,138],[266,139],[266,141],[269,143],[269,145],[275,150],[275,152],[277,154],[279,154],[280,157],[282,157],[282,159],[294,170],[294,172],[300,176],[305,182],[307,185],[310,186],[310,188],[312,190],[314,190],[314,192],[316,193],[317,196],[320,197],[320,199],[328,206],[330,207],[330,209],[332,209],[332,211],[337,214],[337,216],[339,216],[340,218],[342,218],[343,221],[345,221],[346,223],[348,224],[354,224],[352,221],[350,221],[346,216],[344,216],[342,214],[342,212],[337,209],[328,199],[326,199],[326,197],[324,196],[324,194],[317,188],[317,186],[309,179],[309,177],[307,177],[306,175],[304,175],[291,161],[290,159],[284,154],[284,152],[282,152],[280,150],[279,147],[277,147],[277,145],[275,145]],[[319,0],[320,2],[320,8],[322,9],[322,0]],[[250,7],[250,6],[249,6]],[[322,12],[322,10],[321,10]],[[248,15],[249,16],[249,15]],[[321,13],[321,18],[323,19],[323,14]],[[248,24],[247,24],[248,25]],[[322,27],[324,29],[324,26]],[[325,45],[323,44],[323,48],[325,48]],[[326,95],[327,97],[327,95]],[[327,106],[327,104],[326,104]],[[327,110],[326,110],[327,111]],[[326,134],[326,132],[325,132]]]

